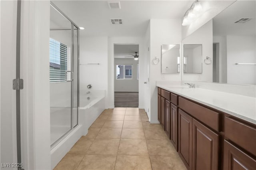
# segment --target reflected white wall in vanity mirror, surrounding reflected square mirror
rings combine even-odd
[[[182,40],[182,44],[202,44],[202,73],[183,73],[183,81],[209,81],[212,82],[212,63],[204,63],[206,56],[212,59],[212,20],[200,27],[193,34]],[[183,55],[183,54],[182,54]],[[183,63],[183,57],[182,62]]]

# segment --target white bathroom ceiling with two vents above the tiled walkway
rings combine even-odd
[[[120,0],[121,9],[109,9],[108,1],[53,1],[74,23],[85,30],[80,36],[144,36],[150,19],[182,18],[193,1]],[[110,18],[122,18],[112,24]]]

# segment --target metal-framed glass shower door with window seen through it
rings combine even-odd
[[[72,24],[50,7],[51,146],[72,129]]]

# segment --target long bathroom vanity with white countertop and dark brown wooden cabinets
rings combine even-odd
[[[158,121],[188,170],[256,169],[255,97],[158,86]]]

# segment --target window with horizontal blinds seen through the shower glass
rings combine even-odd
[[[50,38],[50,82],[66,81],[68,47]]]

